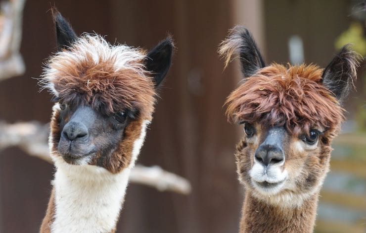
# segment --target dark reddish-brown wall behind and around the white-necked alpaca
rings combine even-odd
[[[56,1],[75,31],[98,32],[114,42],[151,48],[173,34],[177,52],[162,89],[153,123],[138,163],[159,165],[188,178],[189,196],[132,184],[118,232],[236,232],[241,192],[236,180],[234,127],[223,103],[234,86],[223,73],[217,47],[230,24],[230,1],[88,0]],[[53,4],[53,3],[52,3]],[[54,52],[46,0],[28,0],[21,52],[26,74],[0,83],[0,119],[39,120],[51,114],[50,96],[38,93],[42,62]],[[42,221],[53,168],[17,148],[0,152],[1,233],[37,232]]]

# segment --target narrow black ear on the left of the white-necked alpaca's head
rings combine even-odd
[[[68,49],[78,37],[67,20],[56,9],[52,10],[56,27],[57,50]]]

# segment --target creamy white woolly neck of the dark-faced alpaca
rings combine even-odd
[[[78,171],[77,171],[78,170]],[[130,175],[95,166],[58,167],[51,233],[110,233],[116,228]]]

